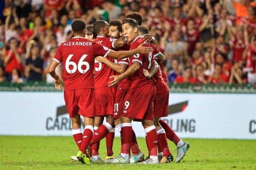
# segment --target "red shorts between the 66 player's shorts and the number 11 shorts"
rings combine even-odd
[[[95,89],[96,116],[113,115],[116,88],[101,87]]]

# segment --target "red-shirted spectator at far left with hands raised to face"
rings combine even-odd
[[[23,66],[21,65],[20,52],[18,51],[18,42],[15,37],[9,40],[10,49],[6,51],[4,58],[5,72],[7,80],[11,80],[11,73],[13,69],[19,69],[20,72],[23,71]]]

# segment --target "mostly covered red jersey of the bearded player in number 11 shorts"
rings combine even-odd
[[[131,48],[131,44],[130,43],[126,43],[124,46],[122,46],[121,48],[118,49],[118,51],[129,51]],[[114,59],[115,63],[119,63],[119,64],[126,64],[129,66],[129,58],[124,58],[124,59]],[[120,75],[120,73],[116,72],[116,75]],[[129,89],[131,86],[131,77],[127,77],[122,79],[118,85],[117,85],[117,89]]]

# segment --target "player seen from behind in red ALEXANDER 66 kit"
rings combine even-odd
[[[64,100],[72,121],[73,137],[81,151],[77,158],[82,163],[90,164],[90,154],[86,153],[92,137],[95,116],[95,94],[93,68],[95,57],[127,58],[138,52],[152,52],[143,46],[132,51],[114,52],[99,43],[85,39],[86,24],[84,20],[74,20],[72,31],[75,35],[58,47],[49,66],[49,74],[55,79],[55,88],[62,89],[62,81],[56,75],[55,68],[64,64]],[[84,117],[84,133],[81,133],[80,115]],[[80,129],[80,130],[79,130]]]

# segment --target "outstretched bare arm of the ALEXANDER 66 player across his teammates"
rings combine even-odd
[[[133,49],[131,51],[119,51],[119,52],[115,52],[115,51],[110,51],[108,53],[108,57],[111,58],[116,58],[116,59],[123,59],[123,58],[128,58],[132,55],[135,54],[148,54],[151,53],[153,51],[153,49],[151,47],[145,47],[143,46],[144,43],[140,44],[140,46],[138,46],[137,49]]]

